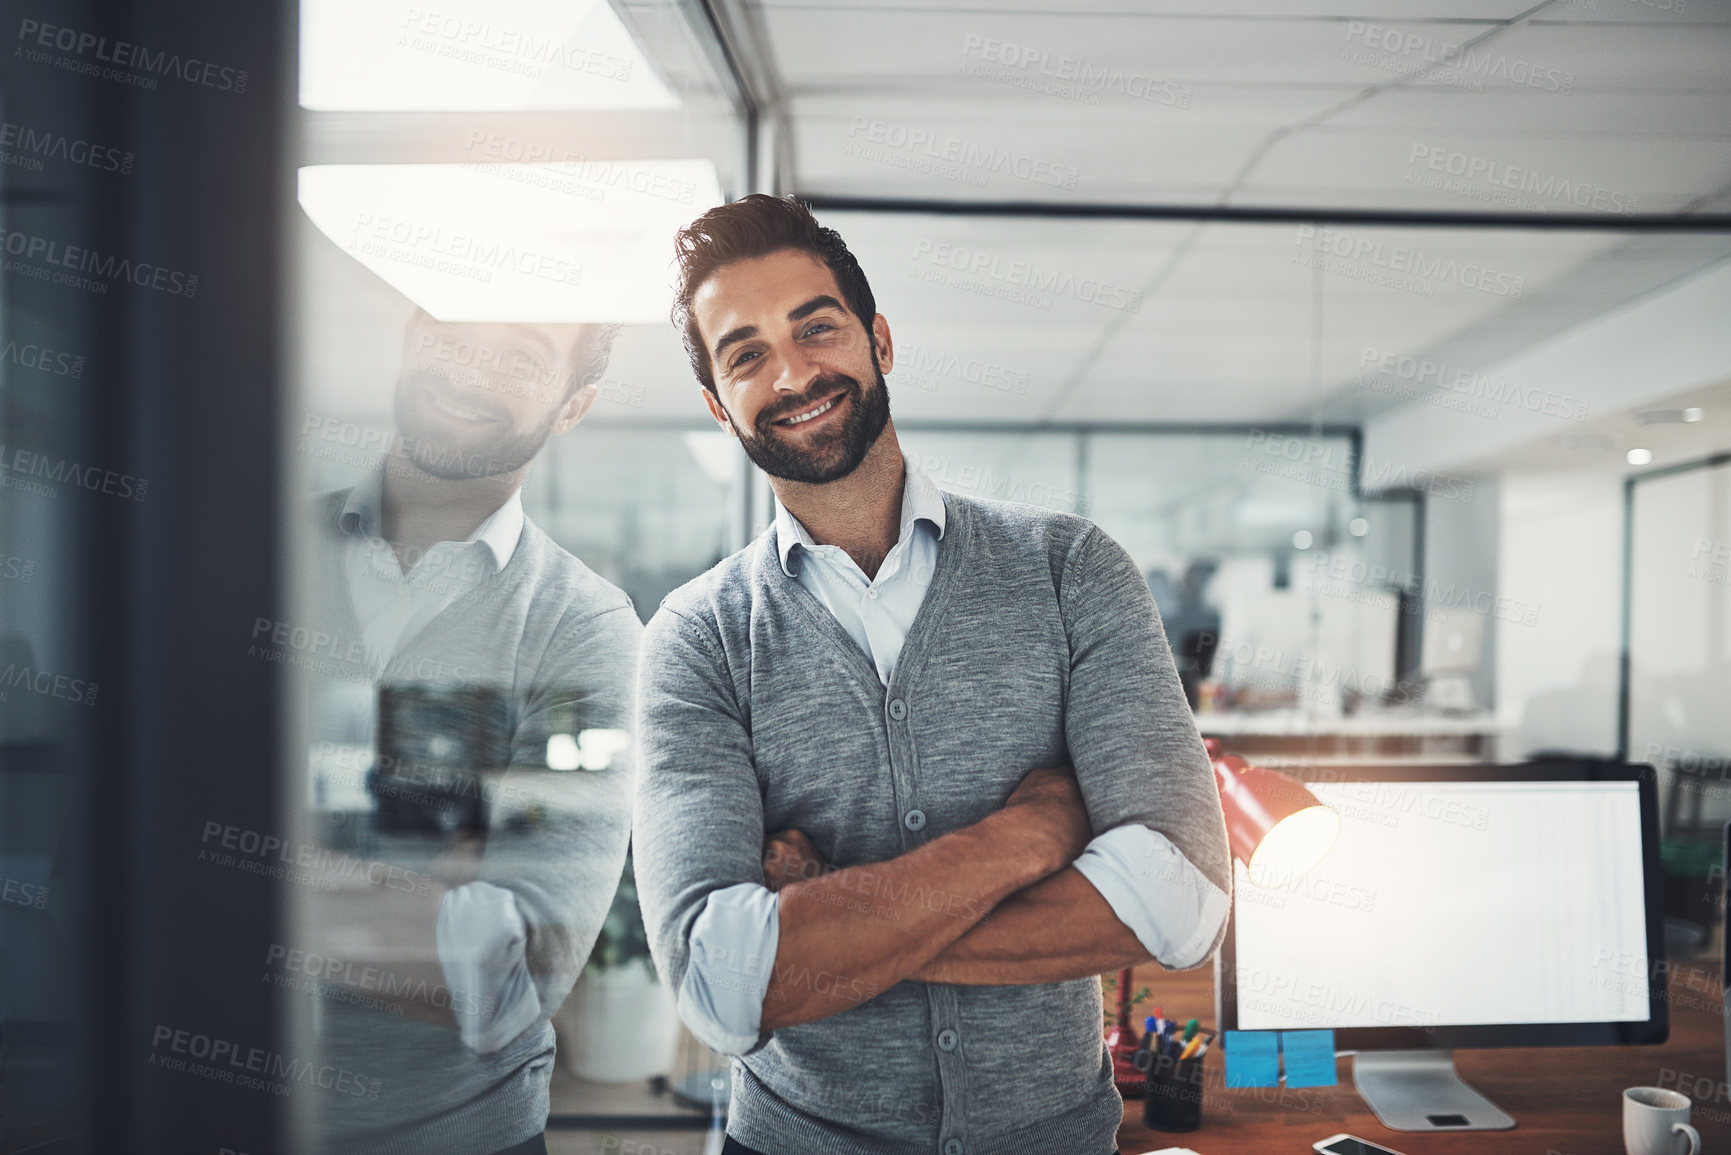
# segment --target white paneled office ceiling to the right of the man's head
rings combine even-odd
[[[1674,7],[755,12],[807,192],[1613,216],[1731,203],[1731,0]],[[1728,249],[1608,232],[824,216],[874,277],[898,339],[1011,365],[1026,386],[897,390],[900,414],[935,417],[1361,419],[1419,403],[1364,384],[1367,348],[1506,355]],[[990,275],[921,281],[921,241],[985,253],[988,268],[1073,270],[1141,306],[1030,303]]]

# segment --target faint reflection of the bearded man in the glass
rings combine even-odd
[[[398,436],[317,504],[312,776],[334,854],[272,961],[319,990],[317,1061],[350,1074],[319,1096],[320,1152],[545,1150],[549,1016],[625,861],[640,625],[521,487],[594,403],[609,338],[417,313]]]

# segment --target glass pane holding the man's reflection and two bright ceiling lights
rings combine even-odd
[[[670,237],[739,192],[727,92],[673,3],[303,7],[296,611],[256,639],[299,734],[268,977],[339,1082],[299,1150],[495,1150],[675,1074],[632,693],[737,545],[737,450],[649,416],[691,388]]]

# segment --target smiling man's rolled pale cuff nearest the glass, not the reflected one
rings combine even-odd
[[[691,925],[679,1016],[711,1051],[750,1055],[769,1042],[760,1023],[781,942],[777,911],[772,890],[736,883],[711,892]]]

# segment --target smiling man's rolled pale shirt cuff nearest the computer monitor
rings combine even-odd
[[[1162,966],[1186,970],[1208,958],[1231,900],[1165,835],[1141,823],[1108,829],[1075,868]]]

